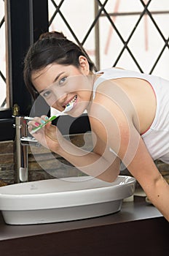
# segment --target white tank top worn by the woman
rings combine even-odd
[[[151,84],[157,100],[157,109],[151,127],[141,137],[153,159],[161,159],[169,164],[169,81],[154,75],[117,68],[103,69],[97,73],[103,75],[95,81],[93,99],[98,85],[105,80],[140,78]]]

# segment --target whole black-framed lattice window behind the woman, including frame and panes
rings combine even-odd
[[[84,47],[97,69],[116,66],[169,79],[169,1],[0,0],[0,4],[0,140],[14,138],[15,103],[22,115],[29,114],[32,100],[23,82],[23,59],[42,32],[63,31]]]

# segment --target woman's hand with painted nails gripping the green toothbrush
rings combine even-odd
[[[28,131],[31,133],[32,129],[39,127],[40,124],[44,124],[47,120],[47,116],[35,117],[34,120],[28,122]],[[50,148],[50,150],[55,153],[57,153],[63,140],[60,131],[57,127],[52,125],[51,121],[42,127],[42,129],[34,132],[33,136],[42,146]]]

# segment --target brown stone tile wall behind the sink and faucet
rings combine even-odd
[[[87,150],[92,148],[90,133],[85,135],[85,138],[83,135],[71,135],[70,139],[76,146],[84,146],[84,149]],[[34,154],[32,154],[32,151]],[[41,146],[33,147],[29,148],[28,152],[29,181],[53,177],[60,178],[65,176],[84,175],[74,166],[70,165],[65,159],[57,154],[52,154],[46,148]],[[14,156],[14,142],[0,142],[0,187],[6,184],[13,184],[16,181]],[[162,176],[164,176],[169,183],[169,165],[158,160],[155,161],[155,163],[162,173]],[[122,172],[122,175],[130,175],[130,173],[125,169]]]

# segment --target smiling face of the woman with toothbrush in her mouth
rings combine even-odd
[[[80,59],[80,57],[82,57]],[[80,116],[87,109],[93,91],[87,59],[79,57],[79,68],[49,64],[32,74],[32,83],[48,105],[63,111],[72,104],[70,116]]]

